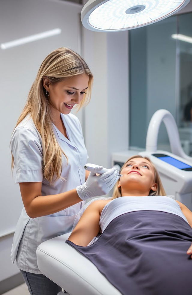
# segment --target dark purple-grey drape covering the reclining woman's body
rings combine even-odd
[[[125,213],[113,219],[94,244],[66,243],[123,295],[192,295],[192,259],[186,254],[192,228],[175,214]]]

